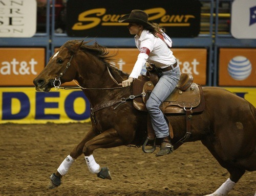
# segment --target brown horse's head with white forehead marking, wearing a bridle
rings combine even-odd
[[[70,65],[82,43],[83,41],[67,41],[59,48],[46,67],[33,80],[37,91],[48,92],[54,86],[58,87],[61,83],[75,79],[76,69]]]

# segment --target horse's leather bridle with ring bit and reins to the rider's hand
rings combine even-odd
[[[61,85],[61,81],[60,81],[60,78],[66,73],[66,71],[68,70],[68,68],[70,67],[71,65],[71,61],[73,59],[73,55],[70,57],[69,59],[69,62],[67,63],[65,69],[59,73],[59,76],[56,76],[54,81],[53,81],[53,86],[55,88],[55,90],[58,90],[58,89],[82,89],[82,90],[110,90],[110,89],[119,89],[119,88],[123,88],[123,87],[112,87],[112,88],[85,88],[85,87],[81,87],[79,84],[77,84],[74,80],[73,82],[78,86],[78,87],[60,87]],[[112,76],[111,72],[110,72],[110,69],[108,66],[106,66],[106,68],[108,69],[108,72],[109,72],[109,75],[111,77],[111,79],[117,84],[118,82],[116,81],[116,79]],[[56,84],[55,84],[56,82]]]

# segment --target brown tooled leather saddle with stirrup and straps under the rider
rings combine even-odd
[[[190,132],[190,119],[192,113],[202,112],[205,108],[204,95],[202,87],[199,84],[193,83],[193,76],[190,74],[181,74],[180,81],[177,84],[174,91],[167,97],[167,99],[161,104],[160,110],[165,114],[185,114],[186,115],[186,127],[187,132],[183,138],[177,143],[184,143],[191,134]],[[146,101],[150,96],[152,90],[157,84],[159,78],[155,71],[147,71],[146,75],[140,75],[138,79],[134,80],[133,93],[145,93],[143,97],[136,97],[133,100],[133,106],[140,111],[147,112]],[[173,128],[168,118],[165,116],[166,122],[169,126],[169,135],[174,137]],[[154,152],[155,148],[155,131],[151,124],[151,117],[148,114],[147,117],[147,138],[142,146],[142,150],[145,153]],[[146,150],[145,145],[150,141],[153,149]]]

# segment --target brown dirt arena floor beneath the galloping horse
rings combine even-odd
[[[48,189],[49,176],[89,127],[90,123],[0,125],[0,195],[199,196],[214,192],[229,177],[200,141],[162,157],[120,146],[94,152],[96,162],[109,167],[112,180],[91,174],[81,156],[61,186]],[[253,196],[255,190],[256,172],[246,172],[228,195]]]

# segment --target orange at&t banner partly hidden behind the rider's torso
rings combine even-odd
[[[113,64],[130,74],[139,54],[138,49],[109,48],[109,50],[111,53],[118,51],[118,55],[115,57],[117,61]],[[193,75],[195,83],[206,85],[207,50],[205,48],[172,48],[172,51],[177,58],[181,72]],[[144,74],[145,71],[144,67],[141,74]]]

